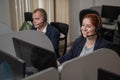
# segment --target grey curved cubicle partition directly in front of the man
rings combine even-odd
[[[8,53],[11,53],[13,56],[16,56],[13,39],[12,39],[13,37],[40,46],[42,48],[46,48],[50,51],[54,51],[52,43],[50,42],[48,37],[42,32],[37,32],[33,30],[24,30],[24,31],[0,35],[0,49]]]

